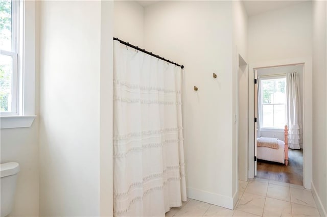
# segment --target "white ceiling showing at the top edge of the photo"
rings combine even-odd
[[[147,7],[149,5],[155,4],[160,2],[160,0],[156,1],[136,1],[138,4],[142,5],[143,7]],[[301,3],[302,1],[294,0],[294,1],[269,1],[269,0],[262,0],[262,1],[243,1],[245,10],[248,16],[254,16],[261,13],[265,13],[267,11],[272,11],[280,8],[286,8],[291,5],[295,5]]]

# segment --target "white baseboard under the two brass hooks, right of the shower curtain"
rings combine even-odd
[[[199,200],[209,204],[214,204],[216,206],[221,206],[227,209],[233,209],[233,205],[235,205],[238,200],[237,193],[233,195],[233,198],[231,198],[226,197],[224,195],[205,192],[195,188],[186,188],[186,191],[188,198]]]

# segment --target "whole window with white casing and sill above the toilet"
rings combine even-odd
[[[35,1],[0,1],[0,127],[29,127],[35,114]]]

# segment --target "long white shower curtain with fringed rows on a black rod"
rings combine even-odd
[[[115,216],[165,216],[186,201],[182,70],[114,41]]]

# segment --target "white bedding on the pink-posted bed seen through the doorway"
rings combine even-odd
[[[285,163],[285,143],[281,140],[278,140],[278,149],[267,148],[267,147],[257,147],[256,149],[256,158],[262,160],[268,160],[273,162]]]

